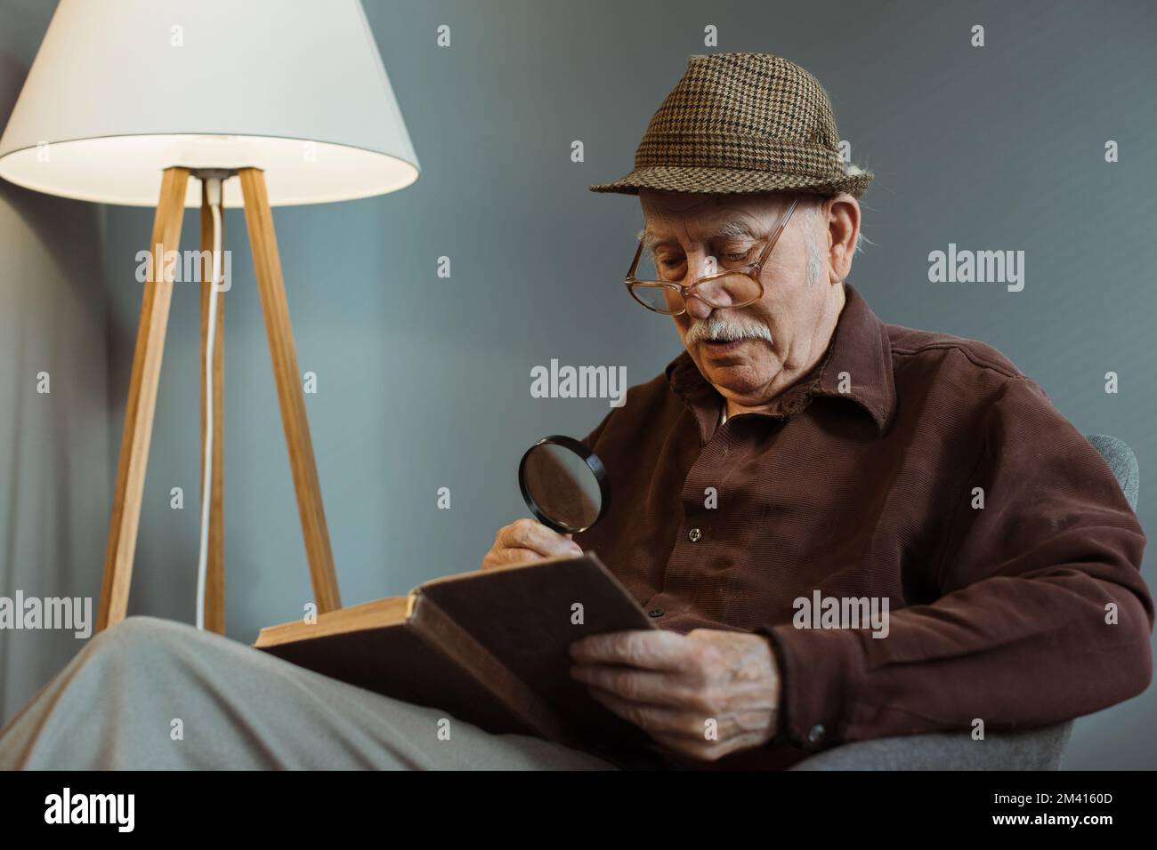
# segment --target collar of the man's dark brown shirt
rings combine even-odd
[[[773,412],[742,415],[786,421],[804,409],[812,398],[823,396],[854,402],[871,416],[877,434],[887,431],[896,412],[887,328],[850,283],[845,283],[843,289],[843,309],[827,350],[816,367],[780,393]],[[842,372],[847,374],[843,392]],[[723,396],[707,382],[686,349],[668,363],[664,374],[671,390],[695,415],[706,443],[718,426]]]

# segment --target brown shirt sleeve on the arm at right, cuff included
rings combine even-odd
[[[1029,729],[1148,687],[1145,535],[1104,459],[1023,377],[1008,380],[977,431],[971,475],[942,494],[941,555],[911,567],[938,587],[935,603],[893,605],[882,638],[756,629],[783,674],[778,742],[815,751],[971,730],[978,718],[986,730]]]

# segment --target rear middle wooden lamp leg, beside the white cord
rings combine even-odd
[[[224,291],[218,293],[213,340],[213,421],[206,421],[205,355],[208,350],[209,291],[213,286],[213,210],[201,182],[201,482],[205,481],[205,433],[213,428],[213,482],[209,495],[209,539],[205,576],[205,628],[224,634]],[[221,209],[221,251],[224,252],[224,208]],[[206,254],[208,252],[208,254]],[[209,257],[208,263],[204,261]],[[222,274],[224,273],[222,260]],[[204,498],[205,494],[201,493]]]

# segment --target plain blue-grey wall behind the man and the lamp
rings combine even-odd
[[[621,287],[638,201],[587,185],[629,169],[687,56],[715,50],[703,46],[706,24],[718,28],[717,50],[781,53],[827,88],[854,161],[876,172],[863,199],[872,244],[850,276],[876,312],[996,346],[1077,428],[1126,439],[1142,467],[1142,523],[1157,527],[1147,486],[1157,480],[1147,472],[1157,468],[1152,3],[366,7],[423,175],[393,195],[275,213],[301,368],[318,375],[307,406],[346,604],[477,567],[495,530],[525,515],[514,474],[522,451],[545,434],[582,436],[605,415],[606,401],[532,399],[532,365],[622,364],[635,384],[678,353],[670,324]],[[435,46],[443,23],[449,49]],[[986,28],[982,49],[968,43],[975,23]],[[39,31],[21,34],[25,54]],[[575,139],[583,163],[570,162]],[[1107,139],[1120,143],[1117,164],[1104,162]],[[110,409],[101,427],[110,470],[139,309],[134,254],[150,220],[149,210],[108,210]],[[185,228],[192,244],[196,216]],[[231,637],[252,641],[261,626],[299,616],[310,587],[245,242],[231,214],[227,622]],[[1024,291],[929,283],[928,252],[950,242],[1024,250]],[[435,275],[443,254],[450,280]],[[130,606],[186,621],[198,535],[197,310],[196,291],[178,286]],[[40,331],[53,321],[45,317]],[[1117,396],[1104,392],[1110,370],[1120,374]],[[84,483],[94,511],[106,482],[102,473]],[[184,511],[169,508],[175,486],[185,489]],[[435,507],[442,486],[449,511]],[[103,542],[86,553],[68,569],[98,587]],[[1152,564],[1149,552],[1145,577],[1157,585]],[[1081,720],[1066,767],[1157,767],[1157,745],[1142,734],[1155,708],[1150,689]]]

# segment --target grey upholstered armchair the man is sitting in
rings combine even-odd
[[[1107,434],[1086,435],[1113,471],[1129,507],[1137,509],[1140,470],[1128,443]],[[855,741],[804,759],[793,770],[1056,770],[1073,720],[1024,732],[897,736]]]

